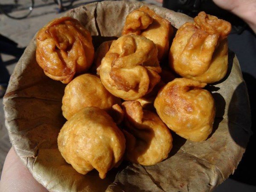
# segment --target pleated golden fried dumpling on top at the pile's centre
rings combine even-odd
[[[138,35],[124,35],[111,44],[99,74],[102,84],[114,96],[136,100],[160,81],[160,72],[153,41]]]

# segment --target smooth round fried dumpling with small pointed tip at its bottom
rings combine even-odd
[[[58,135],[58,149],[77,172],[85,175],[96,169],[104,179],[122,160],[125,137],[108,113],[86,107],[63,125]]]

